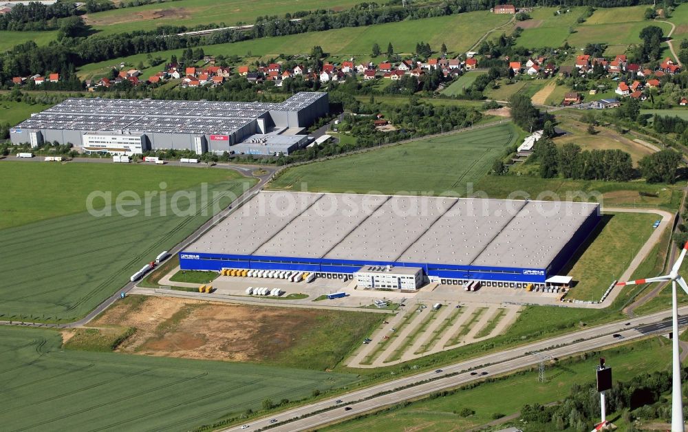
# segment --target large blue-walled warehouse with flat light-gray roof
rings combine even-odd
[[[440,283],[520,287],[561,270],[600,219],[593,203],[263,191],[180,252],[180,264],[337,278],[409,267]]]

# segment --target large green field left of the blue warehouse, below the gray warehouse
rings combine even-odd
[[[28,177],[32,182],[25,182]],[[2,162],[0,180],[6,185],[0,319],[14,321],[85,315],[253,182],[220,169],[41,162]],[[199,185],[204,181],[207,202]],[[157,199],[145,199],[146,185]],[[85,211],[90,191],[111,191],[111,206],[94,201],[94,210],[105,215]],[[133,197],[123,195],[122,213],[116,211],[121,191],[140,197],[132,204]]]

